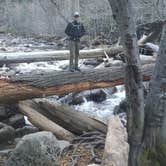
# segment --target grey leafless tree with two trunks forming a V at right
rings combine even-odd
[[[128,165],[166,164],[165,159],[163,159],[166,157],[164,156],[166,154],[166,150],[164,150],[166,146],[166,25],[163,23],[159,56],[144,109],[141,64],[138,55],[132,1],[108,1],[114,19],[119,25],[122,44],[126,50],[125,87],[128,102],[128,141],[130,144]],[[159,147],[162,149],[161,152],[158,151]],[[161,162],[154,162],[154,155],[150,156],[150,153],[154,151],[157,160],[162,158]],[[143,160],[147,160],[147,162]]]

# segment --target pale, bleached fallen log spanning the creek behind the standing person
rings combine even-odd
[[[90,50],[81,50],[80,59],[86,58],[100,58],[103,57],[104,51],[108,55],[114,55],[123,51],[122,46],[110,47],[110,48],[98,48]],[[0,64],[10,63],[30,63],[41,61],[55,61],[55,60],[67,60],[69,59],[68,50],[60,51],[43,51],[43,52],[16,52],[16,53],[0,53]]]

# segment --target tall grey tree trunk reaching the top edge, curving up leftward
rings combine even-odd
[[[144,97],[141,64],[131,0],[109,0],[114,19],[119,25],[126,51],[126,96],[128,101],[129,165],[139,165],[139,151],[144,126]]]

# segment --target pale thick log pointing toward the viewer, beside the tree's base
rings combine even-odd
[[[104,155],[101,166],[127,166],[129,145],[127,131],[119,117],[112,117],[108,123]]]

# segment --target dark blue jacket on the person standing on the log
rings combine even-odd
[[[82,23],[73,21],[67,25],[65,33],[69,36],[70,40],[79,41],[85,35],[85,29]]]

